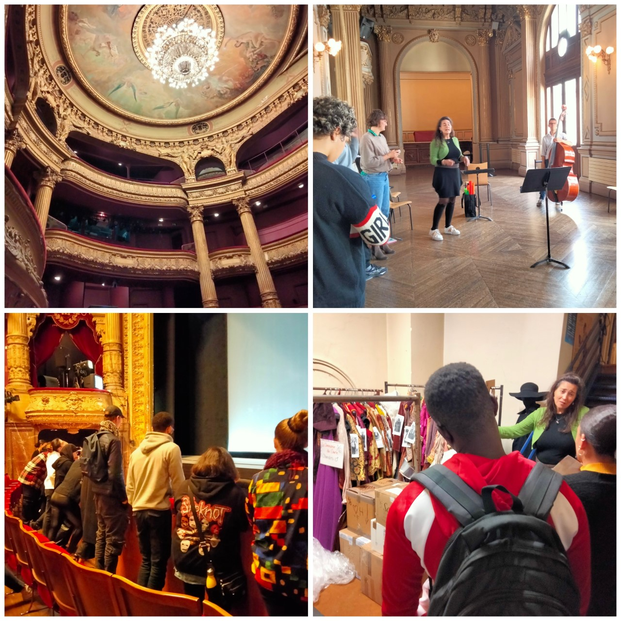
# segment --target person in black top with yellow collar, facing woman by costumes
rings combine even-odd
[[[587,616],[617,610],[617,406],[589,410],[578,425],[580,472],[564,479],[581,500],[591,531],[591,603]]]

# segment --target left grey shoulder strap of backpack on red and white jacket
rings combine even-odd
[[[485,515],[481,496],[442,464],[415,474],[412,481],[426,487],[462,526]]]

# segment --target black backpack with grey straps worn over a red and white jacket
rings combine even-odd
[[[580,594],[563,544],[545,521],[563,483],[560,474],[537,463],[519,496],[502,485],[487,485],[479,496],[442,465],[413,480],[461,524],[442,553],[429,617],[579,616]],[[510,494],[509,511],[496,509],[494,490]]]

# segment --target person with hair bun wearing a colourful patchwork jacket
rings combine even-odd
[[[270,617],[308,615],[308,411],[281,420],[276,453],[255,474],[246,510],[252,573]]]

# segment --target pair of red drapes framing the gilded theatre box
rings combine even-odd
[[[46,317],[35,333],[34,344],[30,348],[30,381],[33,388],[39,386],[37,381],[37,368],[50,359],[54,350],[58,347],[65,330],[56,325],[51,317]],[[102,347],[97,340],[93,327],[90,327],[86,319],[81,319],[75,328],[68,330],[71,340],[76,347],[92,360],[95,365],[95,373],[103,373]]]

